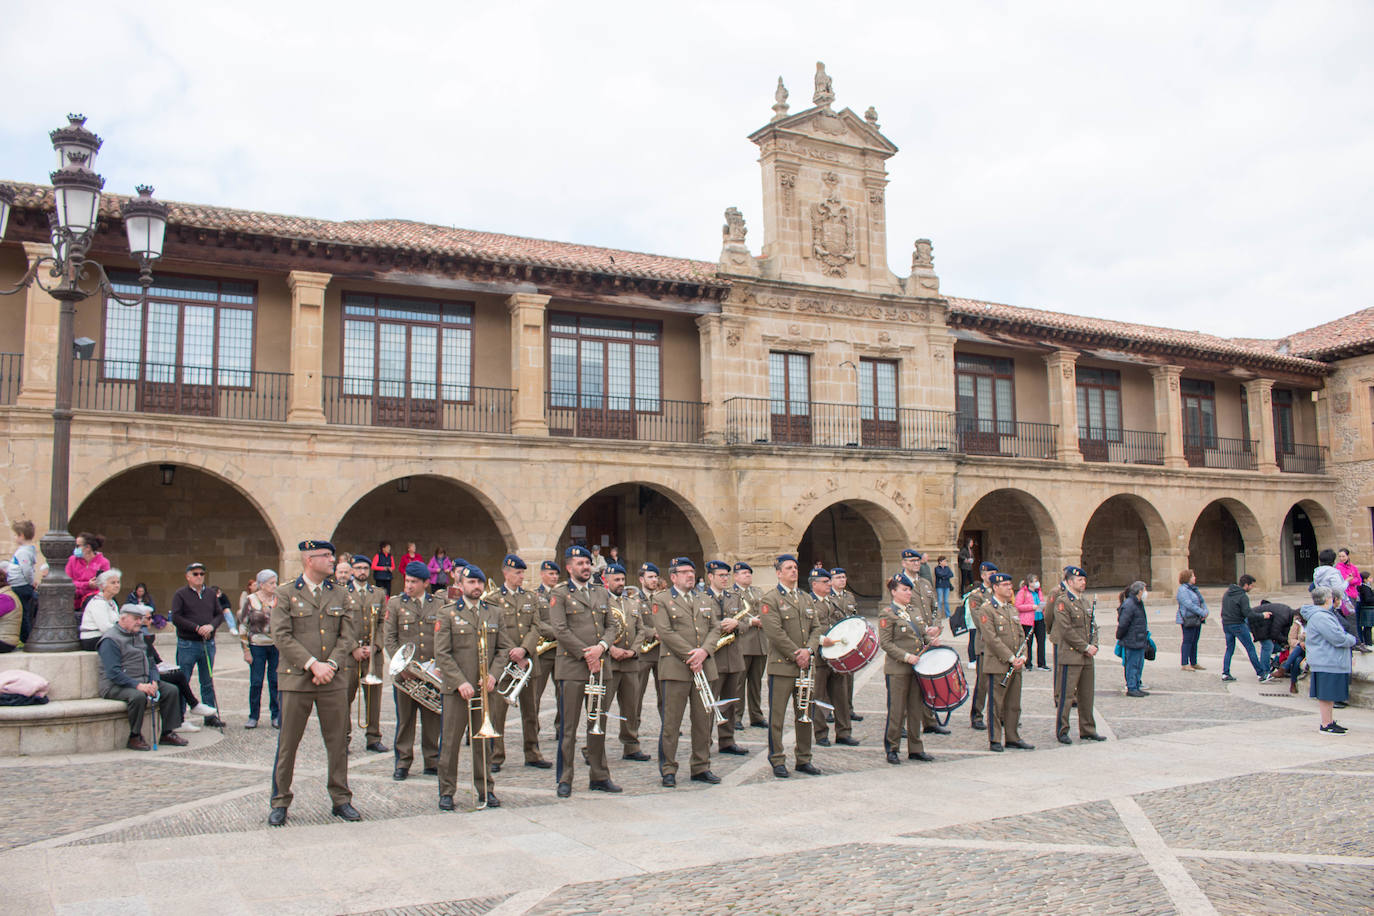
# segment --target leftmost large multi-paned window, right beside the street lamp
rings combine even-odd
[[[121,297],[143,294],[132,271],[110,271],[110,283]],[[106,301],[104,378],[250,387],[256,317],[251,280],[159,272],[142,305]]]

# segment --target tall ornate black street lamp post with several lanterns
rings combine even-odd
[[[77,302],[103,294],[120,305],[140,306],[153,286],[153,262],[162,257],[168,218],[166,205],[153,199],[150,187],[139,187],[139,196],[125,202],[121,217],[129,239],[129,253],[139,264],[143,294],[137,299],[121,298],[104,268],[87,258],[95,242],[100,191],[104,188],[104,179],[95,173],[95,157],[102,140],[85,129],[82,115],[70,114],[67,121],[67,126],[49,135],[58,154],[58,170],[51,176],[54,210],[48,214],[52,254],[30,264],[12,290],[0,290],[0,295],[14,295],[37,284],[60,304],[58,391],[52,408],[52,489],[48,497],[48,530],[38,541],[49,563],[49,573],[38,584],[38,614],[33,632],[23,644],[29,652],[66,652],[78,645],[71,612],[74,586],[66,573],[66,560],[76,544],[76,538],[67,531],[67,490],[71,474],[71,389],[76,369],[73,323]],[[4,238],[10,210],[16,199],[14,188],[0,185],[0,239]],[[82,286],[88,280],[91,283]]]

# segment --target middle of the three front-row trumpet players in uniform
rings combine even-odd
[[[709,595],[695,589],[697,566],[679,556],[668,566],[672,586],[650,603],[649,615],[661,643],[658,654],[658,711],[662,729],[658,735],[658,775],[665,787],[677,784],[677,736],[683,713],[691,707],[691,777],[698,783],[716,784],[720,777],[710,772],[712,710],[701,702],[694,687],[698,672],[706,681],[716,683],[716,663],[712,658],[720,640],[720,607]]]

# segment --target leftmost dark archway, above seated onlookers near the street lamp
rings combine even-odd
[[[238,603],[258,570],[282,560],[276,534],[249,497],[194,467],[144,464],[110,478],[81,501],[70,530],[103,536],[125,595],[146,582],[162,612],[185,585],[187,563],[205,563],[206,584]]]

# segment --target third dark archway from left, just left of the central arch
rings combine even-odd
[[[675,556],[687,556],[698,573],[714,549],[709,531],[699,533],[690,515],[679,505],[680,496],[649,483],[616,483],[583,500],[558,536],[558,560],[572,544],[600,545],[602,553],[620,548],[620,559],[633,581],[635,567],[643,562],[664,569]],[[690,505],[688,505],[690,509]],[[666,569],[665,569],[666,573]]]

